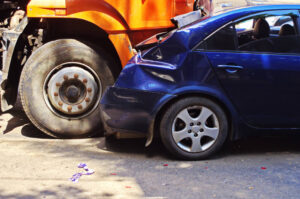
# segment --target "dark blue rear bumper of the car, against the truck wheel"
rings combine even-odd
[[[102,100],[102,118],[108,133],[151,133],[157,111],[173,95],[109,87]]]

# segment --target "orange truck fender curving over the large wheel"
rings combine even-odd
[[[29,18],[58,19],[60,21],[63,21],[62,19],[82,20],[87,24],[94,25],[109,34],[109,40],[115,46],[122,65],[125,66],[134,55],[130,34],[133,27],[129,27],[130,13],[127,13],[129,11],[126,7],[128,6],[125,6],[122,2],[97,0],[57,2],[32,0],[27,7],[27,15]],[[64,25],[68,24],[64,23]]]

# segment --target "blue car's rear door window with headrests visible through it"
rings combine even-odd
[[[299,37],[292,16],[253,17],[235,24],[238,51],[299,53]]]

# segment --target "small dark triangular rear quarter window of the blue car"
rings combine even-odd
[[[198,49],[236,50],[236,31],[233,25],[222,28],[206,39]]]

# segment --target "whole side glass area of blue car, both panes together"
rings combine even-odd
[[[220,29],[197,49],[300,54],[300,36],[295,21],[296,16],[280,11],[259,13]]]

